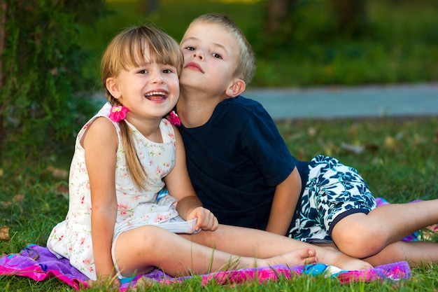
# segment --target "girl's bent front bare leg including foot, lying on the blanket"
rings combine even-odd
[[[240,257],[190,242],[154,225],[123,232],[115,242],[114,256],[124,277],[150,272],[153,267],[160,267],[171,276],[184,276],[227,270],[227,266],[236,269],[316,263],[312,248],[276,253],[269,258]]]

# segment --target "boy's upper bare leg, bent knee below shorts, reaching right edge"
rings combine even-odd
[[[352,214],[332,230],[339,250],[355,258],[367,258],[388,244],[438,222],[438,200],[387,204],[369,214]]]

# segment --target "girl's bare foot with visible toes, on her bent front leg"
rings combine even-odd
[[[281,256],[267,258],[266,263],[263,265],[288,265],[294,267],[295,265],[312,265],[314,263],[318,263],[315,250],[304,248],[290,251]]]

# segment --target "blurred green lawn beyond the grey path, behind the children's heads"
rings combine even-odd
[[[86,29],[83,46],[96,55],[97,69],[108,41],[120,29],[153,22],[179,41],[190,21],[203,13],[225,13],[241,27],[257,55],[250,87],[309,87],[438,81],[436,0],[367,0],[368,26],[348,38],[334,27],[328,1],[300,0],[295,33],[279,40],[262,34],[267,1],[162,0],[148,14],[145,1],[108,1],[108,15]],[[95,72],[97,73],[97,72]]]

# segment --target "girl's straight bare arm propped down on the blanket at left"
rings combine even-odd
[[[118,137],[113,123],[106,118],[97,118],[88,127],[82,143],[90,178],[94,264],[98,281],[108,281],[115,278],[111,246],[117,216],[115,164]]]

